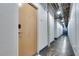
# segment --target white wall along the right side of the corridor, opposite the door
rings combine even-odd
[[[79,56],[79,4],[73,4],[71,8],[68,35],[75,55]]]

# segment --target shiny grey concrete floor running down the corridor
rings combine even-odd
[[[40,51],[42,56],[75,56],[68,36],[63,35],[51,43],[51,47]]]

